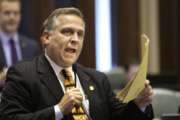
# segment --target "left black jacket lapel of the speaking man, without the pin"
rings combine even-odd
[[[52,95],[59,101],[64,95],[61,85],[45,56],[41,56],[38,62],[38,72],[41,81],[49,89]]]

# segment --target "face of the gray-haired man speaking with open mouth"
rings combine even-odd
[[[78,59],[85,34],[84,21],[75,15],[60,15],[54,30],[48,35],[46,52],[62,67],[71,66]]]

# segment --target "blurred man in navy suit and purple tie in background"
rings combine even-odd
[[[20,10],[20,0],[0,0],[0,89],[8,67],[38,54],[38,44],[18,33]]]

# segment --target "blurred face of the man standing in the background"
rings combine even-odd
[[[6,33],[17,32],[21,19],[20,3],[3,1],[0,4],[0,27]]]

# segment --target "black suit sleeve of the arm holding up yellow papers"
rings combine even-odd
[[[153,113],[151,105],[147,107],[148,110],[146,112],[142,112],[133,101],[123,104],[116,98],[106,76],[103,80],[103,86],[106,91],[105,93],[108,93],[106,94],[106,98],[113,120],[117,118],[119,120],[152,120]]]

